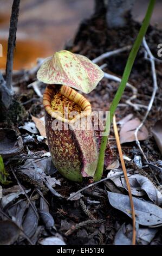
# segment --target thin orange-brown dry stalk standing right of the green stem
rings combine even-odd
[[[125,180],[126,180],[126,184],[127,184],[127,188],[128,188],[128,194],[129,194],[131,209],[132,209],[132,222],[133,222],[132,245],[135,245],[135,236],[136,236],[136,234],[135,234],[135,211],[134,211],[134,204],[133,204],[133,198],[132,198],[132,193],[131,193],[131,187],[130,187],[128,176],[127,176],[126,166],[125,166],[125,162],[124,162],[123,155],[122,155],[121,144],[120,144],[120,139],[119,139],[118,128],[117,128],[117,125],[116,125],[115,115],[113,117],[113,127],[114,127],[114,133],[115,133],[115,138],[116,138],[116,144],[117,144],[118,151],[119,151],[121,166],[122,166],[122,170],[124,172],[124,176],[125,176]]]

